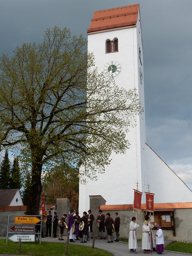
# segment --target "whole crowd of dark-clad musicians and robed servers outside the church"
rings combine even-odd
[[[99,238],[106,239],[106,235],[108,237],[108,243],[118,242],[120,238],[120,217],[118,213],[115,213],[115,218],[113,219],[110,213],[107,213],[106,216],[103,214],[102,210],[99,210],[99,215],[97,216],[97,226],[99,230]],[[78,214],[77,210],[71,210],[68,222],[66,224],[67,215],[63,214],[63,217],[59,220],[57,213],[54,212],[54,215],[47,215],[46,222],[46,236],[52,236],[52,224],[53,224],[53,237],[57,237],[57,226],[59,223],[59,238],[58,240],[63,239],[64,229],[69,233],[69,241],[75,242],[82,238],[81,243],[87,243],[89,238],[93,238],[93,221],[94,215],[92,214],[91,209],[87,212],[83,212],[82,217]],[[132,218],[129,224],[129,239],[128,239],[128,247],[130,249],[130,253],[137,253],[137,235],[136,230],[138,229],[139,224],[135,217]],[[161,230],[161,226],[157,225],[157,232],[155,234],[156,237],[156,246],[155,239],[153,235],[153,224],[150,219],[150,216],[145,216],[145,221],[142,226],[142,249],[144,253],[149,254],[151,251],[157,252],[157,254],[162,254],[163,252],[163,233]],[[106,230],[106,232],[105,232]],[[115,232],[116,237],[112,235]]]

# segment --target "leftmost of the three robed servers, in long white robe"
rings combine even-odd
[[[129,224],[129,249],[131,253],[136,253],[137,249],[137,236],[136,229],[139,227],[139,224],[135,217],[132,218]]]

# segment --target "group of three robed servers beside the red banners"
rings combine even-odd
[[[132,218],[129,224],[129,249],[131,253],[137,253],[137,236],[136,230],[138,229],[139,224],[135,217]],[[149,254],[151,251],[157,252],[157,254],[162,254],[163,252],[163,233],[161,230],[161,225],[157,225],[156,236],[156,248],[155,248],[155,240],[152,229],[154,225],[149,216],[145,216],[145,220],[142,226],[142,249],[144,253]]]

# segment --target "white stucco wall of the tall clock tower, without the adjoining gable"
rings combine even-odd
[[[138,19],[139,20],[139,19]],[[105,53],[107,39],[118,38],[118,52]],[[121,73],[115,77],[118,86],[126,90],[136,88],[142,107],[144,108],[144,82],[140,82],[139,69],[143,63],[139,60],[139,47],[143,60],[142,37],[140,23],[137,27],[129,27],[114,31],[105,31],[88,35],[88,51],[95,56],[98,71],[104,71],[104,66],[111,60],[121,64]],[[106,204],[133,203],[133,188],[143,190],[142,169],[145,170],[145,114],[137,118],[137,126],[130,128],[127,138],[131,143],[126,154],[113,153],[112,162],[106,167],[104,174],[98,174],[97,181],[87,180],[86,185],[80,184],[80,213],[89,208],[89,196],[100,194]]]

